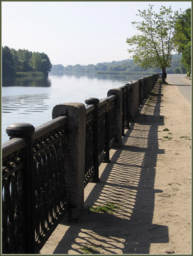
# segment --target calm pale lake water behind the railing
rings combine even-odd
[[[102,75],[68,73],[42,77],[24,77],[2,81],[2,142],[9,140],[5,130],[12,123],[30,123],[35,127],[52,119],[52,108],[61,103],[85,103],[88,97],[103,99],[108,90],[125,85],[147,74]]]

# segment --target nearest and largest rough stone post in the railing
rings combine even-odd
[[[66,197],[72,220],[78,220],[84,208],[86,108],[82,103],[63,103],[52,110],[52,118],[69,117],[68,144],[65,150]]]

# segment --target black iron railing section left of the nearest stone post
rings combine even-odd
[[[17,136],[25,133],[27,137],[3,143],[3,253],[39,252],[67,210],[67,122],[67,117],[56,118],[38,126],[32,134],[26,131],[33,131],[33,126],[17,126]],[[9,130],[12,133],[12,127]]]

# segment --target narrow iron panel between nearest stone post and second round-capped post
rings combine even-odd
[[[85,186],[90,181],[94,170],[94,109],[93,105],[86,107]]]

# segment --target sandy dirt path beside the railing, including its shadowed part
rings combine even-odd
[[[191,106],[174,85],[151,94],[86,186],[80,220],[61,222],[41,254],[191,254]],[[86,209],[108,202],[120,207]]]

